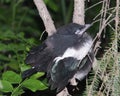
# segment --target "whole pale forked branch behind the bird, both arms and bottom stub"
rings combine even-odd
[[[40,17],[44,22],[48,35],[51,36],[56,32],[56,28],[43,0],[34,0],[34,3],[39,11]],[[74,0],[73,23],[84,25],[84,12],[84,0]],[[63,91],[57,94],[57,96],[70,96],[70,94],[68,93],[67,88],[65,88]]]

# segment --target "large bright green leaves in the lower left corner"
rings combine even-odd
[[[37,78],[43,76],[43,73],[37,73]],[[0,91],[7,93],[11,92],[11,96],[18,96],[24,93],[23,88],[28,88],[35,92],[37,90],[45,90],[47,86],[40,80],[37,80],[36,76],[32,76],[29,79],[22,81],[19,74],[13,71],[6,71],[2,74],[0,80]],[[15,86],[15,84],[17,86]]]

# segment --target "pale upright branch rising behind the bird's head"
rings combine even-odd
[[[85,0],[74,0],[73,23],[84,25]]]

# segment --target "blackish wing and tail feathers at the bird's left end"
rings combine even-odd
[[[51,50],[51,47],[46,42],[33,48],[25,60],[27,64],[32,65],[32,68],[24,71],[22,77],[27,78],[36,72],[47,72],[47,66],[54,57]]]

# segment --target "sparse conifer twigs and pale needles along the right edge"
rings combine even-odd
[[[103,1],[101,11],[97,15],[97,17],[101,16],[98,34],[102,32],[105,38],[111,34],[109,37],[111,42],[109,42],[109,46],[105,46],[103,56],[95,62],[94,74],[92,78],[88,79],[85,96],[120,96],[120,52],[118,50],[120,2],[110,6],[111,3],[112,1],[109,3]]]

